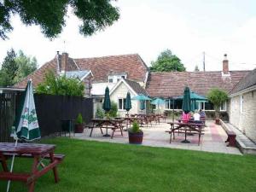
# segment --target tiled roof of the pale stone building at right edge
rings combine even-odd
[[[230,94],[234,94],[240,90],[245,90],[249,87],[252,87],[253,85],[256,85],[256,68],[248,73],[247,76],[245,76],[243,79],[241,79],[241,81],[236,84],[233,90],[230,91]]]

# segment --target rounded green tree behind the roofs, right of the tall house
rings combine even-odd
[[[151,61],[150,70],[153,72],[183,72],[186,68],[177,55],[172,55],[170,49],[160,53],[156,61]]]

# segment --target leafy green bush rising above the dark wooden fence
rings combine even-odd
[[[45,74],[44,82],[38,84],[36,92],[56,96],[84,96],[84,83],[66,76],[55,77],[55,73],[49,71]]]

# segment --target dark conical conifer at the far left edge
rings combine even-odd
[[[6,87],[15,84],[15,77],[18,66],[15,61],[15,50],[10,49],[3,60],[2,68],[0,70],[0,86]]]

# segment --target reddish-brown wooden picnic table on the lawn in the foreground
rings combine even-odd
[[[55,183],[59,181],[57,165],[64,159],[64,154],[54,154],[55,145],[38,143],[0,143],[0,161],[3,172],[0,172],[0,179],[24,182],[28,191],[34,191],[34,185],[38,177],[43,176],[49,170],[53,170]],[[7,160],[15,154],[16,157],[33,158],[32,171],[30,173],[9,172]],[[42,160],[48,160],[45,165]],[[38,167],[41,166],[41,169]]]

